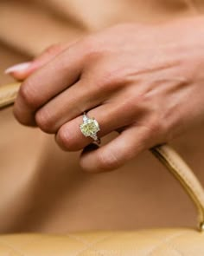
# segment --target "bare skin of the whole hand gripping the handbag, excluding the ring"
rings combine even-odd
[[[54,134],[64,150],[83,149],[83,169],[116,169],[204,121],[202,24],[202,17],[125,23],[54,45],[29,69],[11,74],[25,79],[14,115]],[[99,121],[99,137],[118,136],[92,144],[79,128],[84,111]]]

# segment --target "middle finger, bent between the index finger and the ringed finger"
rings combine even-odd
[[[39,109],[35,121],[42,131],[55,134],[63,124],[104,101],[105,90],[81,79]]]

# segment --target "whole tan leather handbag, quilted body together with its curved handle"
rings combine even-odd
[[[0,89],[0,108],[15,101],[20,84]],[[0,256],[204,256],[204,190],[169,145],[150,149],[181,183],[198,210],[197,229],[0,235]],[[152,184],[154,186],[154,184]],[[154,214],[154,213],[147,213]]]

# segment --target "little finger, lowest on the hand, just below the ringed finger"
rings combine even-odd
[[[80,166],[92,172],[111,171],[121,167],[144,149],[151,148],[152,143],[150,130],[132,126],[101,148],[85,149],[80,156]]]

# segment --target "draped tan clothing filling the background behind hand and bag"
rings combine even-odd
[[[52,43],[72,42],[115,23],[199,15],[204,12],[202,2],[1,1],[0,83],[11,81],[3,69],[27,61]],[[188,198],[149,152],[115,172],[85,174],[78,163],[80,153],[62,152],[53,136],[22,127],[11,110],[0,112],[1,233],[194,225]],[[204,182],[202,131],[196,128],[174,145]]]

